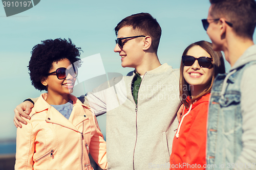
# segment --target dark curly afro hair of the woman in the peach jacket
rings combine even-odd
[[[60,38],[47,39],[35,45],[32,48],[28,66],[32,85],[40,91],[47,91],[46,86],[41,84],[41,78],[48,76],[53,62],[68,59],[71,63],[76,62],[79,67],[81,63],[80,51],[82,51],[81,48],[76,47],[70,38],[69,41]]]

